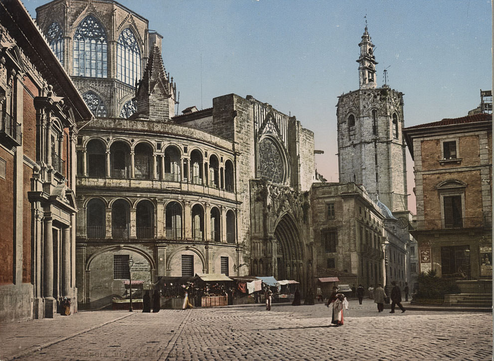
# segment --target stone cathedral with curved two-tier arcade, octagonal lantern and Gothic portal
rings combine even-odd
[[[174,116],[162,36],[116,1],[55,0],[37,21],[95,116],[78,123],[76,146],[80,302],[122,295],[130,257],[145,288],[201,272],[306,287],[311,131],[235,94]]]

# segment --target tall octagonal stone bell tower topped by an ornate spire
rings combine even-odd
[[[359,89],[338,97],[339,181],[363,184],[392,212],[408,210],[403,93],[376,84],[374,45],[365,26],[357,60]]]

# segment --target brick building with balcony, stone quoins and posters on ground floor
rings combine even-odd
[[[410,126],[404,134],[415,162],[417,217],[410,232],[419,270],[455,278],[463,292],[490,290],[492,115]]]

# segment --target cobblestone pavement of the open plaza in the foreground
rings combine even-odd
[[[323,304],[135,312],[19,360],[492,359],[491,313],[396,312],[353,302],[342,327]]]

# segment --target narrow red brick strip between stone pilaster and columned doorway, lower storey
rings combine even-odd
[[[24,164],[23,179],[23,230],[22,230],[22,282],[31,282],[31,203],[27,199],[27,192],[31,185],[32,169]]]

